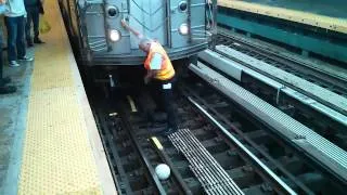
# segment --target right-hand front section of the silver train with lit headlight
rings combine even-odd
[[[206,0],[168,1],[170,2],[170,48],[206,42]]]

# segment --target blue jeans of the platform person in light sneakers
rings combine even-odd
[[[17,57],[24,57],[26,53],[24,41],[24,16],[4,17],[4,23],[8,29],[9,61],[16,61]]]

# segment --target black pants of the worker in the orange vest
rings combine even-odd
[[[164,84],[171,83],[170,89],[164,89]],[[177,115],[174,106],[174,83],[175,77],[169,80],[156,80],[151,81],[151,93],[156,102],[157,109],[167,113],[167,123],[169,128],[177,128]]]

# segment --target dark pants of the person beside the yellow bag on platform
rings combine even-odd
[[[26,8],[27,20],[25,25],[25,35],[27,42],[31,42],[31,23],[34,25],[34,39],[39,38],[39,23],[40,23],[40,12],[38,6],[28,6]]]

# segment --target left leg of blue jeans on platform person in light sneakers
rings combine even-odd
[[[8,29],[8,58],[11,63],[17,60],[15,50],[17,37],[16,17],[4,17],[4,22]]]

